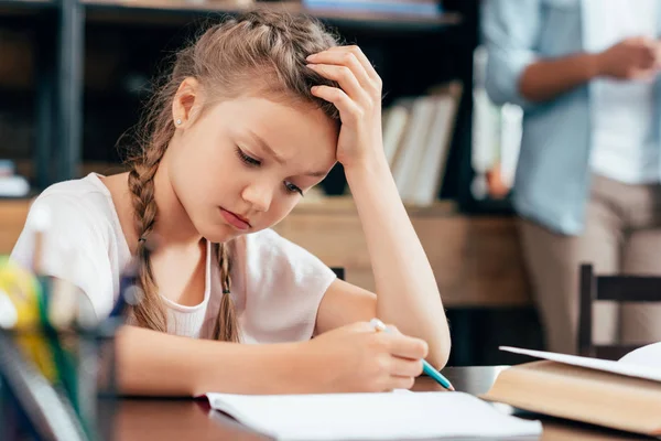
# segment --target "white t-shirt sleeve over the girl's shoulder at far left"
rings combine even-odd
[[[130,255],[112,198],[97,175],[51,185],[33,202],[11,258],[31,267],[41,230],[41,270],[72,281],[102,316]],[[123,241],[122,241],[123,240]]]

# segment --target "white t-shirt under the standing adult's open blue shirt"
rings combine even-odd
[[[598,0],[586,14],[586,46],[604,51],[631,36],[657,39],[659,0]],[[659,181],[655,82],[597,78],[590,84],[592,170],[628,184]]]

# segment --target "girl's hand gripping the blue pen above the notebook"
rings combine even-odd
[[[342,326],[304,342],[303,364],[311,390],[378,392],[410,389],[422,374],[427,345],[420,338],[377,332],[369,323]]]

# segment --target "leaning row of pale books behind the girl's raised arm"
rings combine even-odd
[[[405,204],[429,206],[443,184],[462,84],[430,88],[427,95],[404,97],[384,109],[383,149]]]

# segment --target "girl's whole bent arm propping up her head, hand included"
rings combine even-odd
[[[383,153],[381,80],[357,46],[334,47],[308,61],[317,73],[342,87],[319,86],[313,94],[335,104],[340,112],[337,159],[358,208],[377,287],[375,298],[348,283],[335,282],[322,301],[317,332],[340,325],[342,315],[376,312],[402,333],[426,341],[427,361],[442,367],[451,346],[447,320],[431,265]]]

